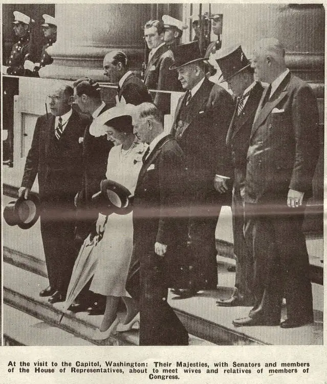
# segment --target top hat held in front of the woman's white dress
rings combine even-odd
[[[132,210],[130,191],[113,180],[102,180],[101,190],[92,196],[92,202],[102,215],[126,215]]]

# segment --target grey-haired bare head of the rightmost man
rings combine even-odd
[[[284,46],[273,37],[257,41],[251,67],[257,80],[272,83],[287,68]]]

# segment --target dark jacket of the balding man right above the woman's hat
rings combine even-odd
[[[124,97],[127,104],[139,105],[143,102],[152,102],[144,82],[133,73],[128,75],[121,87],[118,87],[118,99]]]

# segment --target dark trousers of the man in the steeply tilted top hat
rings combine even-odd
[[[236,260],[235,295],[252,300],[253,256],[244,237],[245,214],[243,199],[237,186],[233,188],[232,223],[234,238],[234,257]]]

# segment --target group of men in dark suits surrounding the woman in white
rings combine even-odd
[[[253,306],[248,317],[234,319],[235,326],[309,324],[312,292],[302,222],[318,158],[315,96],[286,67],[280,42],[266,38],[256,43],[251,62],[241,46],[211,47],[221,82],[227,82],[233,98],[208,80],[207,58],[197,41],[178,45],[171,40],[183,32],[179,23],[166,17],[145,24],[150,53],[143,81],[128,70],[124,52],[110,52],[103,61],[105,74],[118,84],[117,98],[140,104],[135,132],[150,148],[134,200],[140,344],[188,344],[185,328],[167,303],[167,289],[190,297],[216,288],[215,227],[226,204],[233,214],[236,278],[232,296],[217,305]],[[169,33],[168,47],[169,29],[178,33]],[[148,89],[184,92],[169,135],[162,124],[166,94],[158,92],[152,101]],[[74,198],[82,211],[92,212],[91,196],[105,174],[110,145],[90,135],[93,120],[107,108],[99,91],[98,83],[80,79],[73,88],[50,94],[51,115],[37,120],[19,189],[27,196],[38,174],[50,283],[40,295],[50,296],[52,303],[64,300],[76,255]],[[91,120],[71,109],[74,102]],[[149,206],[154,217],[138,221]],[[187,206],[187,223],[166,215],[178,206]],[[82,224],[81,238],[89,230]],[[283,297],[287,319],[280,323]]]

